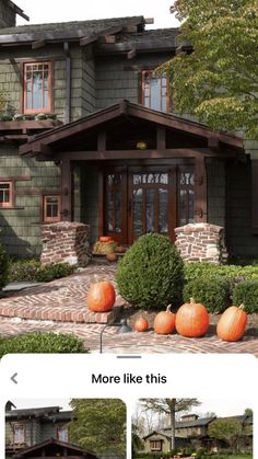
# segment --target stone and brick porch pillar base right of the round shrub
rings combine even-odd
[[[210,223],[189,223],[175,228],[176,242],[187,262],[226,262],[224,228]]]

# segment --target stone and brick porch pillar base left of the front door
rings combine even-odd
[[[85,266],[89,263],[87,225],[61,221],[42,226],[43,252],[40,261]]]

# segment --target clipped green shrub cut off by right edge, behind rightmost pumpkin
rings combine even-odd
[[[239,282],[233,289],[233,305],[245,305],[248,313],[258,312],[258,280],[248,279]]]

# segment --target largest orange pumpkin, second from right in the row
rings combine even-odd
[[[197,337],[203,336],[209,329],[209,313],[204,305],[190,302],[183,305],[176,313],[176,330],[183,336]]]

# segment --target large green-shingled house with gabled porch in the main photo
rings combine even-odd
[[[9,13],[10,18],[5,19]],[[155,231],[225,228],[258,250],[256,145],[179,117],[166,74],[178,28],[143,16],[15,26],[0,9],[0,227],[10,253],[42,251],[40,227],[85,223],[131,244]],[[190,53],[190,46],[185,46]]]

